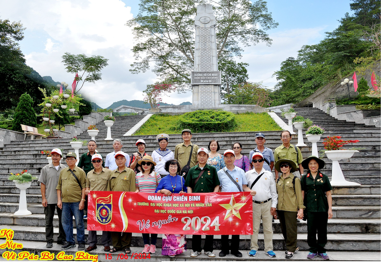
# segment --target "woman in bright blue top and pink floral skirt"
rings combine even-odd
[[[185,180],[184,177],[179,175],[181,171],[179,162],[175,159],[166,161],[165,170],[169,172],[169,175],[166,175],[162,178],[159,185],[157,186],[156,193],[162,193],[166,196],[170,196],[171,194],[185,193]],[[186,251],[186,249],[186,235],[163,234],[163,256],[174,257],[175,255]]]

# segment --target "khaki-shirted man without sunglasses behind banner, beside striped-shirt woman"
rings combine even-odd
[[[135,172],[126,167],[126,154],[122,151],[115,153],[115,163],[118,168],[110,173],[108,191],[135,192]],[[112,245],[110,253],[123,250],[126,254],[131,253],[131,238],[130,232],[112,232]]]

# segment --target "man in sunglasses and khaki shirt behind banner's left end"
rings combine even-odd
[[[111,170],[104,168],[102,156],[100,154],[94,154],[91,157],[91,163],[94,169],[87,173],[86,177],[86,196],[90,194],[90,191],[107,191],[107,185],[109,184],[109,178]],[[97,248],[97,238],[96,231],[89,230],[89,235],[87,238],[88,248],[85,249],[86,252],[90,252]],[[111,232],[102,232],[102,244],[104,246],[104,251],[110,251],[111,245]]]

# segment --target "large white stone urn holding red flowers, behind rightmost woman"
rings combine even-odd
[[[341,171],[339,160],[351,158],[358,150],[327,150],[325,154],[332,160],[332,179],[331,185],[360,185],[356,182],[346,181]]]

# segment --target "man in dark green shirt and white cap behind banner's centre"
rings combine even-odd
[[[208,161],[208,149],[200,147],[197,150],[198,165],[195,165],[189,169],[188,175],[185,180],[185,186],[188,193],[210,193],[218,192],[219,179],[217,170],[210,165],[207,165]],[[201,254],[201,235],[192,236],[192,249],[191,257],[197,257]],[[215,257],[213,253],[213,235],[205,236],[204,253],[209,257]]]

